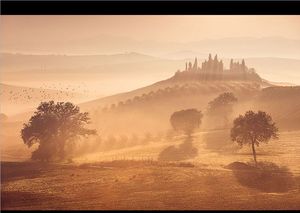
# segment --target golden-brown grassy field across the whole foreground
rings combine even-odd
[[[170,142],[97,152],[69,164],[2,159],[1,208],[299,209],[300,132],[281,132],[257,149],[259,161],[286,168],[259,177],[226,167],[252,160],[249,147],[238,149],[226,135],[196,133],[198,156],[181,163],[156,160]]]

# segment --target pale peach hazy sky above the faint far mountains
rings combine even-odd
[[[2,43],[85,39],[102,34],[189,42],[280,36],[300,39],[300,16],[1,16]]]

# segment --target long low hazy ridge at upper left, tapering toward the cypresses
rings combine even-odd
[[[78,68],[94,67],[108,64],[138,63],[153,61],[158,58],[140,53],[124,53],[114,55],[30,55],[30,54],[12,54],[1,53],[2,72],[55,72],[55,70],[64,69],[80,71]]]

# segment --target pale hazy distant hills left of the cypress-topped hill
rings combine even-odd
[[[140,53],[112,55],[1,54],[0,60],[3,61],[1,66],[2,83],[28,87],[40,87],[43,84],[81,86],[81,88],[96,94],[97,97],[152,84],[167,78],[183,64],[181,60],[161,59]]]

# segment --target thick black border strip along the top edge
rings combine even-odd
[[[2,15],[298,15],[300,1],[1,1]]]

